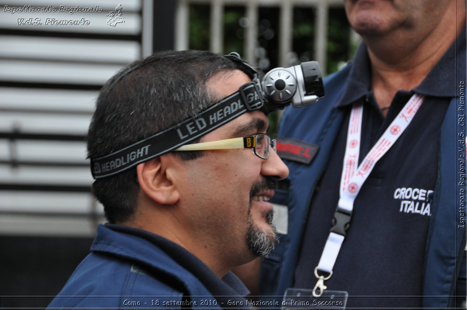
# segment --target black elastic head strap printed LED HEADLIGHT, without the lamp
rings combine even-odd
[[[243,113],[261,109],[264,101],[259,89],[255,82],[248,82],[238,92],[175,126],[109,155],[92,158],[92,177],[100,179],[123,172],[198,139]]]

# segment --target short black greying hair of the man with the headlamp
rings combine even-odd
[[[157,52],[129,64],[99,92],[87,135],[88,158],[127,147],[213,105],[219,98],[208,92],[207,80],[234,69],[240,69],[238,63],[198,50]],[[189,160],[200,152],[176,153]],[[134,214],[139,190],[136,167],[92,184],[92,193],[111,223]]]

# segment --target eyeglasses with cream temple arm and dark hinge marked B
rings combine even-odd
[[[231,148],[253,148],[253,153],[256,156],[262,159],[268,159],[271,148],[276,151],[276,139],[271,140],[267,134],[255,134],[250,137],[187,144],[180,148],[176,148],[174,151],[200,151]]]

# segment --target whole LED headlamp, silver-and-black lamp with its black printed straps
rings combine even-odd
[[[255,68],[245,63],[237,53],[230,53],[226,57],[237,62],[241,70],[253,81],[242,85],[238,92],[234,92],[175,126],[109,155],[92,158],[92,177],[99,179],[113,176],[142,162],[169,153],[248,111],[262,109],[268,115],[290,104],[294,107],[313,104],[318,101],[318,98],[324,96],[321,72],[317,62],[273,69],[266,73],[260,82]]]

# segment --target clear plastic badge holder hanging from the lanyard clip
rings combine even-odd
[[[321,296],[313,296],[313,289],[285,290],[283,310],[293,309],[346,309],[348,293],[346,291],[323,290]]]

